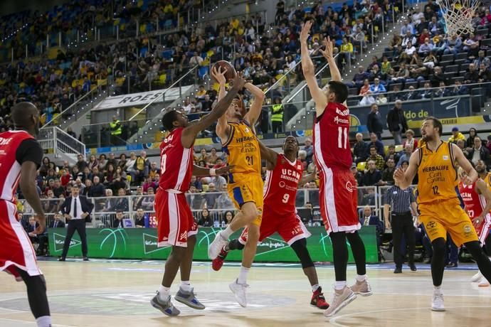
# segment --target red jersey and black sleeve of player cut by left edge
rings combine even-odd
[[[19,130],[0,134],[0,200],[14,201],[22,163],[33,161],[39,167],[42,156],[41,146],[28,132]]]

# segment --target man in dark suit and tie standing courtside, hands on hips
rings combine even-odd
[[[61,253],[59,261],[65,261],[66,254],[68,253],[68,247],[70,247],[70,241],[72,240],[75,230],[80,236],[82,242],[82,254],[83,261],[88,261],[87,257],[87,235],[85,233],[85,219],[90,216],[94,205],[92,202],[80,195],[80,188],[77,184],[72,186],[72,195],[66,198],[63,205],[61,205],[61,212],[65,215],[65,219],[68,223],[68,230],[66,232],[65,244],[63,245],[63,252]]]

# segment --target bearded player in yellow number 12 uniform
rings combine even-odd
[[[441,122],[428,117],[423,121],[421,136],[426,144],[416,149],[409,159],[406,171],[398,168],[394,180],[399,187],[407,188],[418,173],[418,210],[433,247],[431,277],[433,278],[433,311],[445,311],[440,289],[445,268],[445,242],[447,232],[455,245],[465,245],[477,262],[482,275],[491,280],[491,262],[482,252],[477,233],[469,216],[463,210],[458,193],[458,175],[455,165],[467,173],[465,185],[477,180],[477,172],[465,158],[462,150],[452,143],[442,141]]]

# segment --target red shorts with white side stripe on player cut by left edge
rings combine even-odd
[[[36,251],[31,240],[16,217],[16,205],[0,200],[0,270],[13,274],[17,281],[21,281],[18,268],[29,276],[43,273],[36,262]]]

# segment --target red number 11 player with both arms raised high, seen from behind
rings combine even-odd
[[[348,88],[341,81],[341,74],[332,56],[332,42],[324,38],[325,50],[320,50],[329,63],[331,81],[325,90],[317,85],[315,68],[310,59],[307,39],[312,21],[302,26],[300,47],[302,70],[315,102],[314,153],[320,172],[320,212],[327,233],[331,238],[334,256],[334,297],[324,316],[336,314],[360,294],[371,295],[366,279],[365,246],[357,230],[361,228],[357,213],[357,184],[350,168],[352,154],[349,148],[349,109],[346,107]],[[357,264],[357,282],[347,287],[348,239]]]

